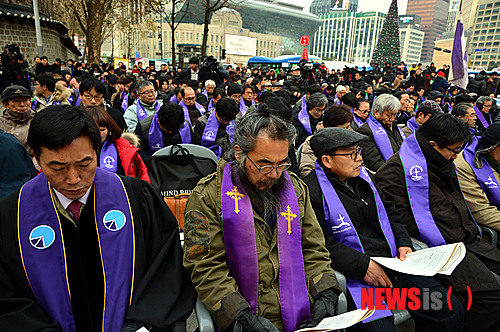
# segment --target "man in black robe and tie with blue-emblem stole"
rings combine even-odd
[[[106,258],[101,255],[100,250],[109,237],[102,236],[100,220],[96,222],[101,202],[95,197],[98,194],[103,196],[103,189],[96,190],[95,181],[99,174],[101,177],[102,172],[105,172],[97,169],[99,129],[84,110],[73,106],[50,106],[33,119],[28,142],[43,171],[37,177],[38,180],[46,177],[45,181],[48,180],[49,183],[50,189],[47,191],[51,193],[49,197],[52,197],[53,207],[48,207],[47,211],[54,212],[55,209],[60,234],[64,238],[63,257],[71,308],[69,314],[65,312],[61,315],[73,319],[76,331],[102,331],[105,324],[103,316],[108,317],[108,312],[104,309],[114,301],[105,300],[112,294],[108,294],[108,286],[120,281],[116,279],[121,277],[118,273],[115,274],[116,279],[110,279],[109,266],[104,267]],[[104,175],[109,177],[107,174],[109,173],[105,172]],[[116,180],[118,178],[114,181]],[[183,321],[189,316],[195,299],[194,289],[182,267],[177,223],[148,183],[130,177],[120,177],[119,180],[123,183],[121,190],[128,196],[130,204],[132,220],[127,222],[129,225],[133,224],[134,259],[130,285],[119,287],[118,292],[115,289],[116,295],[120,296],[123,295],[122,292],[128,292],[127,305],[118,307],[118,310],[125,312],[123,321],[120,319],[114,322],[115,326],[121,326],[122,332],[136,331],[143,326],[151,331],[171,330],[175,322]],[[23,195],[29,192],[28,184],[21,189]],[[26,221],[22,215],[18,217],[21,193],[16,192],[0,201],[0,326],[5,331],[62,331],[61,325],[66,322],[56,320],[53,317],[56,315],[50,315],[50,308],[44,307],[39,297],[34,295],[34,281],[38,283],[45,279],[50,282],[50,278],[56,276],[56,273],[47,270],[48,275],[38,273],[30,274],[29,278],[27,276],[26,270],[30,268],[26,260],[27,252],[30,249],[33,251],[33,248],[29,245],[22,247],[20,244],[25,239],[19,237],[21,233],[18,232],[18,218],[21,228],[22,222]],[[110,196],[109,200],[113,200]],[[106,193],[103,197],[106,197]],[[83,205],[80,204],[74,210],[71,206],[75,202]],[[48,227],[47,213],[33,210],[30,204],[24,208],[32,215],[39,214],[40,220],[35,222]],[[59,234],[59,230],[56,231]],[[57,236],[56,240],[61,241]],[[40,242],[34,244],[31,241],[31,245],[36,248],[34,250],[43,251],[54,245],[54,242],[45,242],[40,247]],[[112,251],[118,255],[121,252],[119,249],[121,248],[116,248],[116,252]],[[49,263],[51,258],[45,258]],[[55,265],[58,266],[57,263]],[[66,293],[68,290],[64,289]],[[60,290],[53,290],[53,294],[57,292],[61,293]],[[57,303],[64,299],[54,296],[50,300]]]

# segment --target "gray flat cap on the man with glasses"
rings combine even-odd
[[[358,145],[360,142],[368,139],[367,136],[338,127],[328,127],[319,130],[311,137],[311,149],[317,158],[333,152],[338,148],[348,148]]]

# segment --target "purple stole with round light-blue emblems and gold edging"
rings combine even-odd
[[[97,168],[94,214],[105,282],[104,331],[120,331],[132,301],[134,220],[120,178]],[[64,332],[74,332],[66,253],[50,184],[43,173],[19,194],[18,237],[26,277],[37,302]]]

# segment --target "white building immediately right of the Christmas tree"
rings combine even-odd
[[[425,36],[425,32],[420,30],[421,22],[418,15],[399,15],[401,61],[407,65],[420,62]]]

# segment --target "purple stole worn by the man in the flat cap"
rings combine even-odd
[[[318,164],[315,163],[316,177],[318,178],[319,186],[321,191],[323,192],[323,200],[325,204],[325,221],[328,226],[328,231],[332,238],[342,243],[349,248],[355,249],[361,253],[364,253],[363,245],[359,240],[358,233],[356,229],[353,227],[353,223],[349,214],[347,213],[342,201],[340,200],[337,192],[333,188],[330,180],[326,177],[325,172]],[[389,222],[389,217],[387,216],[387,212],[385,211],[384,203],[380,198],[380,195],[373,183],[372,179],[366,172],[365,168],[361,166],[361,170],[359,172],[359,177],[366,181],[373,192],[373,196],[375,197],[375,202],[377,205],[378,219],[380,228],[382,229],[382,233],[385,236],[385,240],[391,248],[392,257],[397,256],[397,247],[396,240],[394,239],[394,233],[392,232],[391,223]],[[338,218],[337,218],[338,217]],[[349,279],[347,278],[347,286],[349,287],[349,292],[356,303],[356,307],[361,308],[361,288],[374,288],[366,284],[363,280]],[[390,310],[378,310],[375,311],[375,314],[368,319],[363,320],[363,323],[371,322],[375,319],[392,316],[392,312]]]

